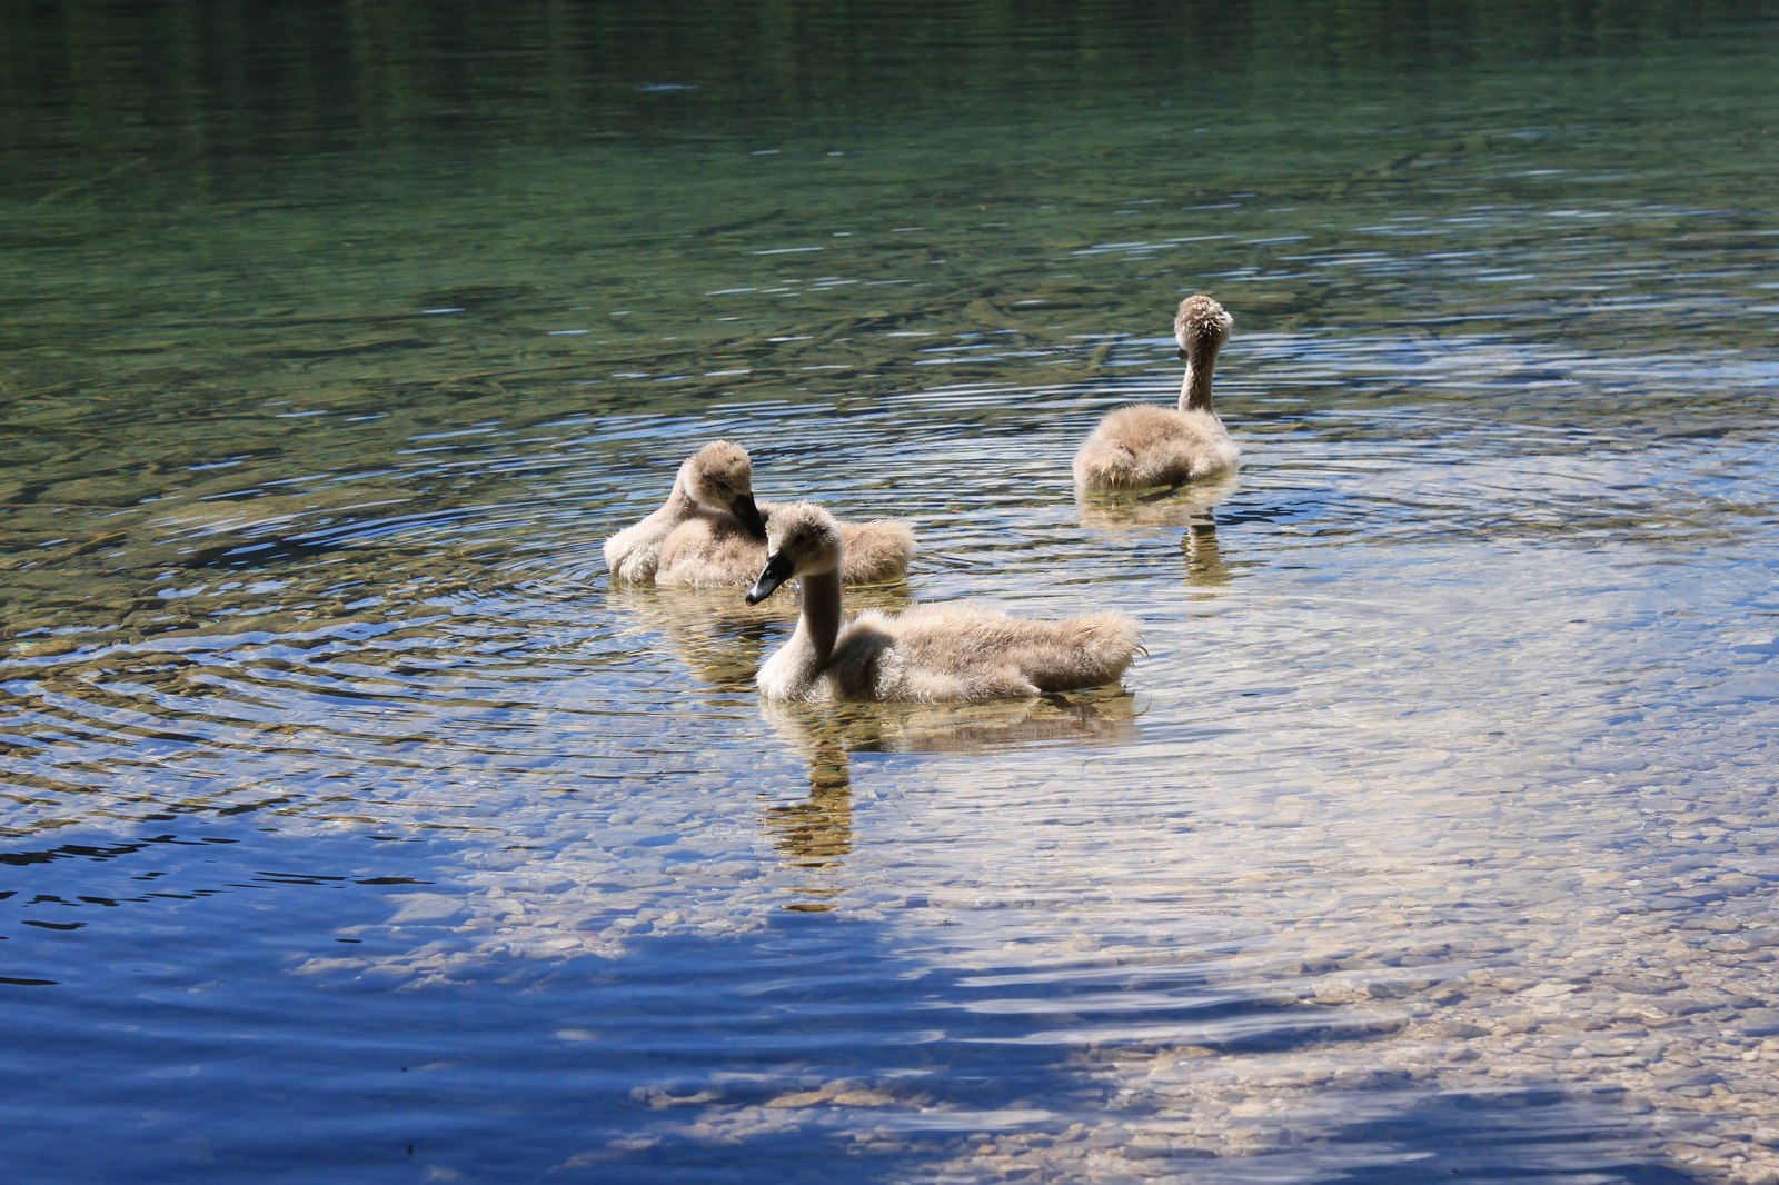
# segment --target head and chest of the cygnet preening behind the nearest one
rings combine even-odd
[[[706,539],[713,546],[735,544],[735,537],[753,537],[761,552],[767,523],[754,505],[754,470],[747,450],[726,439],[704,445],[680,464],[667,502],[640,523],[619,530],[605,541],[605,566],[617,580],[660,580],[669,539],[681,528],[687,541]],[[683,553],[685,548],[674,548]],[[745,582],[745,576],[735,584]],[[678,584],[696,584],[680,580]]]

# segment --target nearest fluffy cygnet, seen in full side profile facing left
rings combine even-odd
[[[1137,623],[1112,612],[1025,621],[968,605],[918,605],[841,623],[843,548],[834,518],[809,502],[777,507],[767,520],[769,555],[747,603],[790,578],[802,584],[797,630],[756,676],[769,699],[1018,699],[1110,683],[1137,653]]]

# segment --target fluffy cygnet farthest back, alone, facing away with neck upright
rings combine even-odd
[[[1208,295],[1179,302],[1174,340],[1187,361],[1179,409],[1137,404],[1107,413],[1075,454],[1078,489],[1179,486],[1235,470],[1240,450],[1211,411],[1211,372],[1235,318]]]

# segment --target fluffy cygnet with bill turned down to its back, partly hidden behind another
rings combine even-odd
[[[605,543],[617,580],[699,589],[745,587],[765,564],[765,520],[772,504],[754,502],[753,459],[731,441],[704,445],[685,459],[667,502]],[[907,573],[914,532],[893,518],[841,525],[847,584],[881,584]]]

